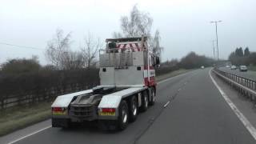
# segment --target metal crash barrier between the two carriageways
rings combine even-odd
[[[219,70],[218,68],[214,68],[212,70],[214,74],[221,78],[232,86],[235,90],[238,90],[240,94],[249,98],[250,101],[256,104],[256,81],[250,78],[245,78],[242,76],[238,76],[237,74],[230,74],[225,71]]]

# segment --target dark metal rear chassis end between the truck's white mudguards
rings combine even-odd
[[[94,106],[70,106],[70,115],[77,118],[92,118],[94,116]]]

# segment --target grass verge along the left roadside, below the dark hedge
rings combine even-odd
[[[171,73],[157,76],[156,80],[159,82],[188,71],[191,70],[175,70]],[[50,105],[50,102],[43,102],[34,106],[16,106],[0,111],[0,136],[50,118]]]

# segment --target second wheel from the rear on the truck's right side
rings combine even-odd
[[[138,116],[138,98],[133,96],[129,102],[130,122],[134,122]]]

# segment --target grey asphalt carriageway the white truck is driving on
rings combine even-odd
[[[194,70],[159,83],[156,104],[121,132],[99,130],[94,124],[71,130],[50,127],[15,143],[255,144],[214,86],[209,70]]]

